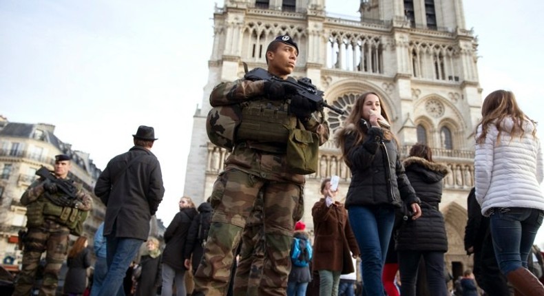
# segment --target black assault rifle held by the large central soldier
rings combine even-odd
[[[317,89],[317,87],[315,87],[315,85],[312,84],[311,79],[308,77],[300,78],[297,82],[293,82],[293,81],[289,81],[289,79],[283,80],[278,77],[275,77],[272,74],[270,74],[268,71],[262,68],[255,68],[247,72],[244,78],[251,81],[266,80],[266,81],[279,81],[281,83],[289,83],[289,85],[293,86],[297,92],[293,96],[301,96],[302,98],[306,98],[308,101],[312,103],[313,109],[315,111],[320,111],[323,109],[323,107],[327,107],[328,109],[333,110],[337,114],[344,114],[344,110],[327,104],[327,101],[323,99],[324,92]]]

